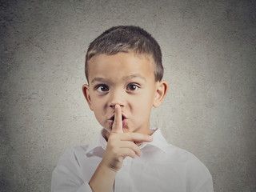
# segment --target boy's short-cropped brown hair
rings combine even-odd
[[[163,75],[162,53],[158,42],[141,27],[114,26],[106,30],[90,43],[86,53],[86,79],[88,81],[88,62],[98,54],[118,54],[134,51],[136,54],[148,54],[155,62],[154,78],[161,81]]]

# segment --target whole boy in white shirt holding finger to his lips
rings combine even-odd
[[[51,191],[213,191],[206,166],[150,130],[152,106],[168,90],[158,42],[136,26],[116,26],[90,43],[83,94],[103,127],[90,146],[60,158]]]

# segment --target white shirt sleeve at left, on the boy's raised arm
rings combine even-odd
[[[67,150],[58,161],[51,178],[51,192],[92,192],[89,181],[83,181],[78,174],[74,152]]]

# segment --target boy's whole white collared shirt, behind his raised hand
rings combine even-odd
[[[126,157],[114,182],[116,192],[213,192],[209,170],[193,154],[170,145],[158,129],[139,148],[142,157]],[[106,140],[66,150],[55,167],[51,192],[92,191],[89,181],[101,162]]]

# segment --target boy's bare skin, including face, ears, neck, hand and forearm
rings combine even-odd
[[[93,191],[111,191],[123,159],[141,156],[138,145],[152,141],[150,112],[161,105],[168,84],[155,82],[154,62],[143,54],[100,54],[88,67],[89,85],[82,86],[83,94],[108,141],[89,184]]]

